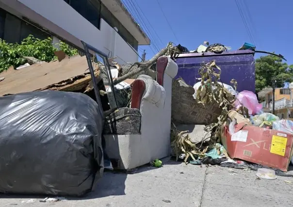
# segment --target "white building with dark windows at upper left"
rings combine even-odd
[[[9,43],[31,34],[82,50],[83,40],[121,64],[150,44],[120,0],[0,0],[0,8],[0,38]]]

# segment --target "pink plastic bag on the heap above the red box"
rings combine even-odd
[[[235,107],[238,109],[241,105],[248,109],[250,115],[256,115],[262,109],[262,104],[259,104],[257,96],[248,90],[244,90],[237,95]]]

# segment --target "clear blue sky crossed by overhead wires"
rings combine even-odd
[[[189,50],[195,50],[203,41],[221,43],[232,50],[237,50],[244,42],[251,42],[235,0],[158,0],[177,38],[157,0],[123,1],[128,2],[130,7],[132,1],[138,11],[143,11],[145,16],[141,14],[141,19],[160,49],[169,41],[180,43]],[[257,50],[281,53],[288,64],[293,64],[293,0],[245,0],[246,6],[243,1],[238,0]],[[130,12],[145,28],[134,11]],[[146,50],[146,59],[154,55],[149,46],[140,46],[140,55],[143,50]]]

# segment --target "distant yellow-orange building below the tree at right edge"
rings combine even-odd
[[[273,88],[264,88],[258,95],[264,100],[263,111],[273,113]],[[280,119],[293,118],[293,88],[275,89],[275,115]]]

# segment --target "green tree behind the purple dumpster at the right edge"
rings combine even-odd
[[[286,82],[293,82],[293,65],[288,66],[275,55],[262,56],[256,59],[256,91],[272,86],[283,87]]]

